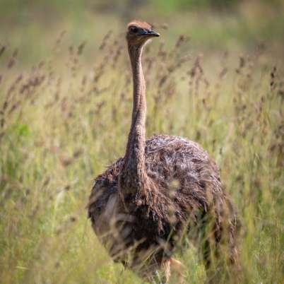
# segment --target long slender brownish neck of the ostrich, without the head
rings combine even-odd
[[[124,155],[124,165],[120,175],[122,194],[136,194],[143,187],[143,182],[146,179],[146,86],[141,65],[142,51],[143,47],[129,46],[134,93],[131,129]]]

